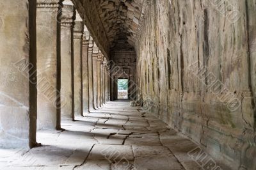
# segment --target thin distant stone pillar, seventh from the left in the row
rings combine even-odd
[[[97,80],[97,60],[98,60],[98,55],[99,55],[99,48],[97,47],[97,45],[94,43],[93,45],[93,54],[92,54],[92,70],[93,70],[93,105],[94,108],[99,108],[99,105],[97,104],[97,84],[98,84],[98,80]]]

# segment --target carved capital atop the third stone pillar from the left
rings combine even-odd
[[[72,27],[76,20],[76,10],[73,5],[64,4],[61,15],[61,26]]]

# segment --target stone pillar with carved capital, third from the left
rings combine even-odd
[[[61,118],[74,120],[74,77],[72,63],[74,59],[74,19],[73,5],[63,5],[61,16]]]

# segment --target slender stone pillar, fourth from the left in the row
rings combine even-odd
[[[74,27],[74,114],[83,116],[82,45],[83,21],[76,21]]]

